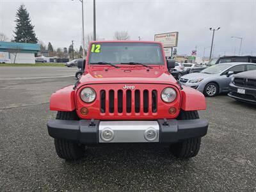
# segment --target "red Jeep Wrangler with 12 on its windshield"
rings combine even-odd
[[[84,64],[74,86],[51,96],[58,113],[47,127],[59,157],[77,159],[97,143],[168,143],[176,157],[198,154],[205,97],[168,72],[175,63],[160,42],[91,42]]]

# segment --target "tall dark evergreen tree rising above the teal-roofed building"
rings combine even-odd
[[[26,10],[24,4],[20,5],[16,13],[16,27],[14,36],[15,42],[25,42],[25,43],[37,43],[38,39],[34,31],[34,26],[31,24],[31,19],[29,18],[29,13]]]

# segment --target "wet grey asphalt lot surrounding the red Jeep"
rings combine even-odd
[[[187,161],[168,147],[111,145],[88,147],[83,159],[67,162],[46,124],[56,115],[51,93],[74,84],[76,69],[21,70],[0,68],[0,191],[256,191],[256,106],[207,98],[200,116],[209,131]],[[54,70],[63,71],[54,77]]]

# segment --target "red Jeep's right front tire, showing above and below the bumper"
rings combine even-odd
[[[178,120],[193,120],[198,119],[197,111],[180,111]],[[171,146],[170,150],[173,156],[180,159],[189,159],[195,157],[200,150],[201,138],[192,138],[189,140],[175,143]]]

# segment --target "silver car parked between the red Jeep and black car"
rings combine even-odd
[[[253,63],[223,63],[212,65],[199,73],[187,74],[180,78],[180,83],[195,88],[205,96],[214,97],[229,91],[229,84],[233,74],[252,70]]]

